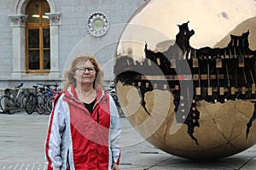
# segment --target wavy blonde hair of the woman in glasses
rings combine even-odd
[[[73,59],[71,65],[70,65],[70,68],[67,69],[67,71],[64,74],[64,76],[66,78],[66,81],[64,82],[64,89],[67,89],[71,85],[74,85],[75,87],[77,86],[77,84],[76,84],[77,81],[76,81],[76,79],[74,77],[75,71],[76,71],[76,69],[77,69],[79,64],[85,63],[88,60],[90,60],[90,62],[92,63],[92,65],[94,65],[95,70],[96,70],[96,79],[93,82],[93,87],[95,89],[97,89],[97,88],[105,89],[104,85],[103,85],[104,73],[102,71],[102,68],[100,67],[100,65],[98,65],[95,57],[93,55],[90,55],[90,54],[77,55]]]

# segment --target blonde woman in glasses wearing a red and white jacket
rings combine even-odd
[[[54,100],[45,143],[48,169],[119,170],[119,114],[91,55],[73,59]]]

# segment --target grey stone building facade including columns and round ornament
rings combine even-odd
[[[0,0],[0,88],[41,82],[61,83],[63,71],[76,54],[95,54],[113,80],[113,57],[125,23],[145,0],[38,0],[48,3],[49,67],[29,71],[26,52],[28,5],[37,0]],[[93,27],[94,26],[94,27]]]

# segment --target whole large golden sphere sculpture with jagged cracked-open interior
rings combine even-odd
[[[119,102],[160,150],[189,159],[256,143],[256,2],[152,0],[116,51]]]

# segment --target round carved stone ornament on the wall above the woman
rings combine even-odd
[[[102,37],[104,36],[109,27],[108,17],[102,12],[95,12],[90,14],[90,17],[87,20],[87,31],[93,37]]]

